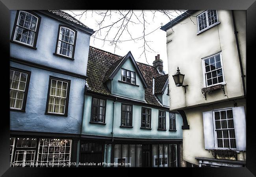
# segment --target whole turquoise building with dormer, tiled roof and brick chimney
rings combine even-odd
[[[182,117],[160,55],[151,66],[90,46],[87,76],[78,165],[180,166]]]

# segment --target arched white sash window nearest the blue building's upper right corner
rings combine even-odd
[[[66,26],[59,26],[59,33],[55,53],[57,55],[74,59],[75,44],[76,31]]]

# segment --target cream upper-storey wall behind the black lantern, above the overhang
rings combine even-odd
[[[167,30],[169,76],[175,74],[177,66],[179,66],[180,72],[185,74],[183,84],[189,85],[186,87],[185,96],[184,88],[176,87],[173,78],[169,78],[170,109],[243,96],[232,13],[227,10],[218,10],[219,22],[221,23],[197,35],[197,19],[194,16],[202,12],[198,11],[193,14],[193,17],[191,16],[191,20],[195,24],[191,22],[190,18],[186,18],[180,22],[184,24],[176,24],[172,29]],[[239,46],[246,75],[246,13],[245,11],[235,11],[235,14],[237,31],[239,31]],[[207,100],[205,100],[201,92],[201,89],[205,87],[201,58],[220,51],[226,81],[226,96],[222,90],[219,90],[211,95],[207,94]]]

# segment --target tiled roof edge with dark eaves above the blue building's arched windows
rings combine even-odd
[[[95,31],[93,31],[93,29],[89,28],[88,26],[86,26],[85,24],[83,24],[82,22],[77,20],[76,18],[72,17],[72,15],[70,15],[66,12],[63,12],[61,10],[40,10],[39,12],[44,13],[46,15],[50,15],[52,17],[55,17],[58,20],[61,20],[62,22],[65,22],[69,25],[73,25],[78,28],[81,28],[84,31],[90,33],[91,35],[95,32]]]

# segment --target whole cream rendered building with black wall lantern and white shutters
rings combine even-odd
[[[161,29],[170,109],[184,123],[183,166],[245,166],[246,11],[189,10]],[[186,93],[171,77],[177,67]]]

